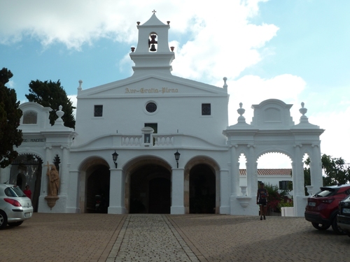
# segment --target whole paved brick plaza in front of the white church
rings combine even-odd
[[[0,261],[349,261],[302,217],[46,214],[0,231]]]

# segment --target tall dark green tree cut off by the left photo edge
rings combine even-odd
[[[16,157],[18,152],[13,147],[22,143],[22,131],[18,130],[22,110],[18,108],[15,89],[6,87],[6,83],[13,77],[7,68],[0,70],[0,166],[5,168]]]

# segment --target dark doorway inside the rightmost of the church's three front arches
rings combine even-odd
[[[200,164],[190,170],[190,213],[214,214],[216,178],[210,166]]]

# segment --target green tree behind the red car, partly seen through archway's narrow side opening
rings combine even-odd
[[[339,159],[323,154],[321,157],[323,170],[323,185],[331,186],[335,184],[346,184],[350,182],[350,167],[346,166],[344,159]],[[306,167],[304,168],[305,185],[311,184],[310,178],[310,159],[304,161]]]

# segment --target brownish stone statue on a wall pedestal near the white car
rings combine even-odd
[[[45,165],[48,167],[48,172],[46,175],[48,176],[48,196],[45,196],[46,201],[48,201],[48,206],[52,209],[57,199],[58,189],[59,189],[59,174],[57,168],[53,164]]]

